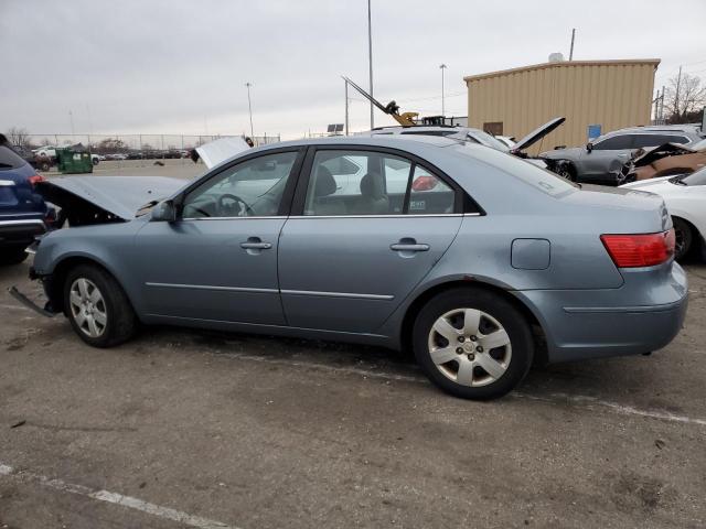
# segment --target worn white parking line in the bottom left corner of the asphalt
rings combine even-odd
[[[139,510],[158,518],[176,521],[197,529],[238,529],[235,526],[228,526],[227,523],[222,523],[220,521],[201,518],[200,516],[192,516],[188,512],[150,504],[131,496],[122,496],[121,494],[111,493],[109,490],[95,490],[83,485],[66,483],[63,479],[53,479],[29,471],[15,471],[13,467],[4,464],[0,464],[0,476],[9,476],[23,483],[36,483],[41,486],[61,490],[63,493],[77,494],[97,501],[119,505],[128,509]]]

